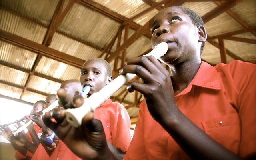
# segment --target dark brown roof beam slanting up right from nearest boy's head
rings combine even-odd
[[[242,2],[243,0],[227,0],[226,2],[222,3],[220,6],[214,8],[210,12],[206,13],[204,16],[202,16],[202,19],[204,23],[212,20],[213,18],[217,17],[218,15],[222,14],[223,12],[226,12],[226,10],[229,10],[230,8],[234,7],[236,4]]]

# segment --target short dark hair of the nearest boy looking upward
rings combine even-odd
[[[194,12],[193,10],[189,9],[189,8],[186,8],[186,7],[183,7],[183,6],[174,6],[176,8],[179,8],[180,10],[182,10],[186,15],[188,15],[188,17],[192,20],[192,23],[195,25],[195,26],[204,26],[204,21],[202,20],[202,18],[196,13]],[[203,49],[204,49],[204,45],[205,45],[205,42],[202,42],[202,45],[201,45],[201,50],[200,50],[200,53],[202,54],[203,52]]]

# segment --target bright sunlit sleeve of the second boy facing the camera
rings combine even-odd
[[[117,104],[117,113],[115,114],[116,125],[113,126],[114,129],[111,130],[112,144],[116,148],[122,150],[123,152],[126,152],[131,142],[131,136],[130,136],[131,120],[124,106],[122,104],[118,104],[118,103],[116,104]]]

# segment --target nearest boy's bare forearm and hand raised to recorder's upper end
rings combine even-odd
[[[130,92],[138,90],[144,95],[152,117],[174,138],[190,158],[240,159],[205,134],[178,109],[170,74],[158,60],[152,56],[138,57],[128,60],[127,64],[122,74],[134,73],[144,81],[143,84],[132,82],[128,90]]]

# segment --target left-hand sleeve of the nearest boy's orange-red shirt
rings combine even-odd
[[[139,119],[134,130],[132,142],[124,156],[124,160],[145,160],[148,159],[144,144],[144,109],[146,102],[143,100],[140,104]]]

